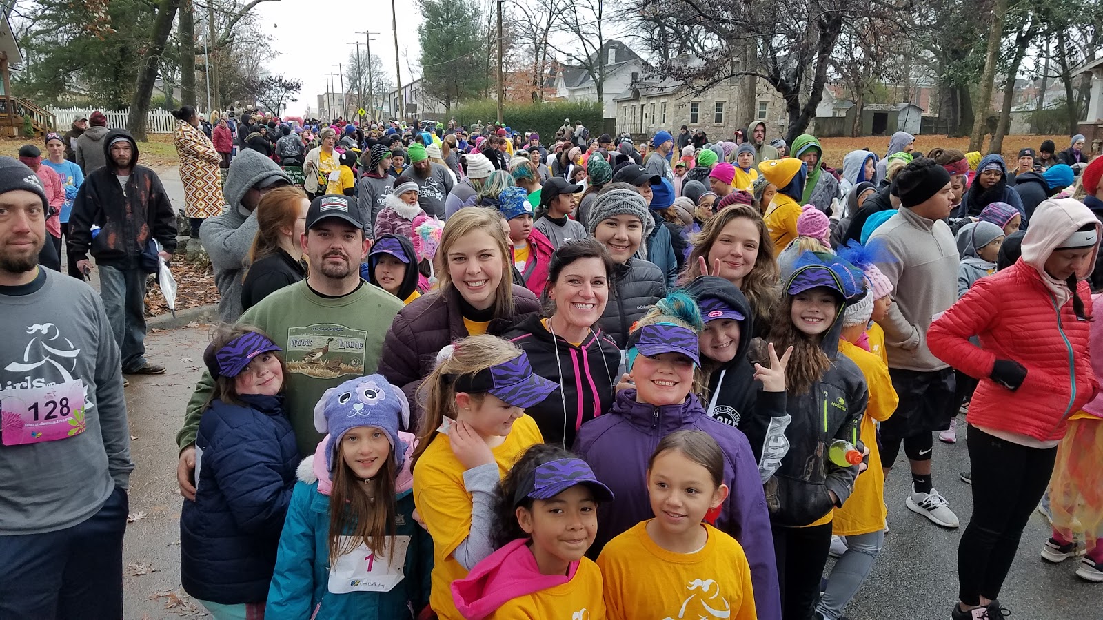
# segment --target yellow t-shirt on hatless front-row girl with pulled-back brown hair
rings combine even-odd
[[[735,538],[705,524],[705,546],[678,554],[656,545],[647,523],[610,541],[598,557],[610,620],[757,619],[751,569]]]

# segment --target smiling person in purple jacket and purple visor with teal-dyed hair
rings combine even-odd
[[[780,620],[778,571],[767,535],[769,515],[751,446],[739,429],[705,414],[698,338],[704,321],[692,297],[676,291],[660,299],[628,338],[628,373],[635,387],[617,394],[610,410],[578,431],[575,451],[615,496],[598,512],[589,556],[611,538],[654,516],[647,499],[647,457],[677,430],[702,430],[724,452],[724,484],[730,492],[705,520],[742,545],[762,620]]]

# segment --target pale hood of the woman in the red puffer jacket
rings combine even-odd
[[[1035,210],[1035,216],[1030,218],[1031,226],[1022,237],[1022,261],[1035,268],[1042,281],[1053,292],[1060,306],[1071,299],[1069,287],[1054,279],[1046,272],[1046,261],[1049,260],[1053,250],[1060,247],[1072,233],[1082,226],[1093,224],[1096,234],[1100,234],[1100,221],[1095,218],[1091,210],[1073,199],[1049,199],[1042,201]],[[1092,249],[1092,256],[1084,261],[1084,267],[1077,272],[1077,279],[1083,280],[1091,275],[1095,268],[1095,258],[1099,255],[1100,244],[1096,240]]]

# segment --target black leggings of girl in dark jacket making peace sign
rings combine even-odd
[[[831,550],[831,523],[813,527],[772,525],[782,620],[814,620],[820,580]]]

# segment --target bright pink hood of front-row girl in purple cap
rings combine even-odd
[[[486,556],[462,579],[452,581],[456,609],[468,620],[482,620],[505,602],[570,581],[578,562],[567,575],[543,575],[528,541],[518,538]]]

